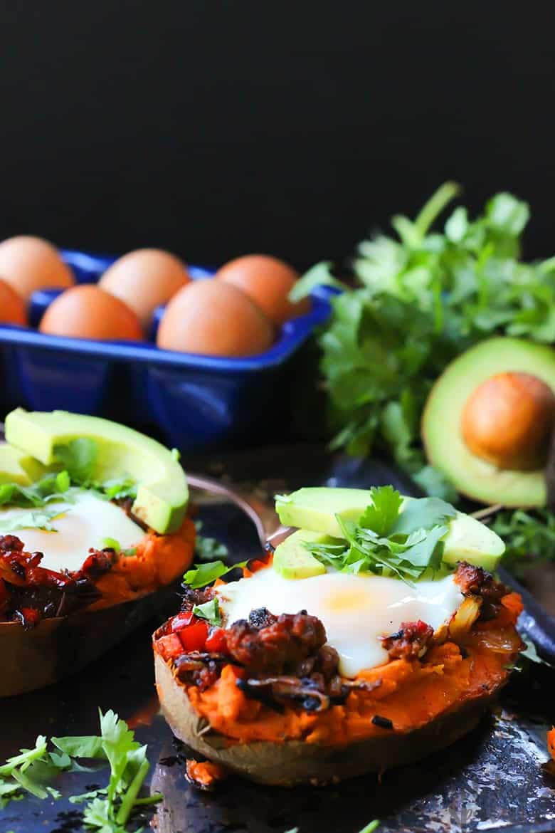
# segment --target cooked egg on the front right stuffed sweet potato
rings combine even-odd
[[[276,616],[302,610],[318,616],[328,644],[339,653],[339,672],[347,677],[387,661],[380,636],[398,631],[401,622],[421,619],[435,630],[463,601],[453,576],[410,587],[399,579],[337,571],[290,580],[271,568],[216,592],[227,626],[248,619],[257,607],[267,607]]]

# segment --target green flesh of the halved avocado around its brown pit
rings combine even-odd
[[[422,419],[429,461],[455,488],[483,503],[545,506],[543,469],[499,469],[473,454],[463,440],[461,416],[478,385],[497,373],[530,373],[555,392],[555,351],[518,338],[490,338],[454,360],[430,392]]]

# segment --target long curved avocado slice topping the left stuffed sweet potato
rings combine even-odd
[[[131,477],[137,484],[132,506],[137,517],[161,534],[181,526],[189,496],[186,476],[160,442],[100,416],[17,408],[6,417],[7,441],[44,466],[57,463],[60,446],[81,438],[97,444],[93,480]]]

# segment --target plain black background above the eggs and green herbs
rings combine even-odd
[[[345,257],[444,179],[555,252],[548,2],[48,0],[0,12],[0,237]]]

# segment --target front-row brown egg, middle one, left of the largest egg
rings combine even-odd
[[[119,298],[84,283],[62,292],[42,316],[39,330],[51,336],[94,338],[116,342],[141,342],[143,333],[136,314]]]

